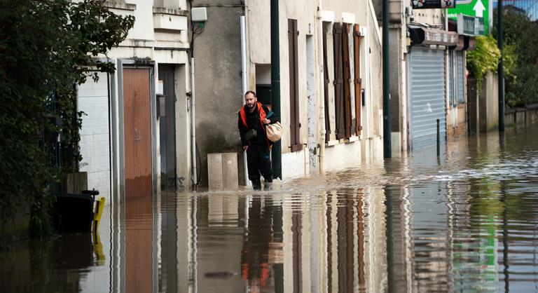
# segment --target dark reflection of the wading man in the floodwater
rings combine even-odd
[[[262,210],[261,198],[253,198],[249,208],[248,235],[244,239],[241,256],[241,276],[249,284],[250,292],[260,292],[267,285],[269,271],[269,243],[273,240],[273,203],[267,200]]]

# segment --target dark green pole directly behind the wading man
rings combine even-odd
[[[278,0],[271,0],[271,110],[279,117],[280,113],[280,41],[278,29]],[[273,144],[271,151],[273,178],[282,179],[282,144]]]

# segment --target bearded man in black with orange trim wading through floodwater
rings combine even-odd
[[[273,114],[268,117],[267,106],[258,102],[256,93],[249,90],[244,94],[244,106],[239,110],[237,127],[241,135],[241,144],[247,151],[249,179],[254,190],[261,190],[260,173],[265,182],[263,189],[271,189],[273,172],[271,171],[270,146],[273,144],[265,133],[265,125],[277,122]]]

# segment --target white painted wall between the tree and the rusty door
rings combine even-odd
[[[109,92],[106,74],[99,81],[91,78],[78,87],[78,111],[84,111],[81,129],[82,172],[88,172],[88,189],[99,190],[100,196],[110,198]]]

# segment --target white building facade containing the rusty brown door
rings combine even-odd
[[[191,179],[189,41],[186,0],[104,1],[119,15],[134,15],[127,39],[78,87],[83,111],[81,171],[107,202],[186,189]],[[187,186],[187,187],[186,187]]]

